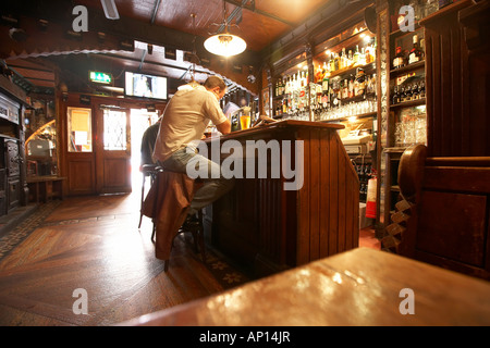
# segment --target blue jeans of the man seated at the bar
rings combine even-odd
[[[198,210],[209,206],[233,188],[234,178],[224,178],[221,175],[221,167],[218,163],[212,162],[201,154],[187,151],[186,148],[173,152],[160,165],[164,171],[187,174],[187,163],[193,169],[198,169],[199,179],[204,183],[194,195],[188,214],[195,214]],[[220,173],[220,177],[211,178],[211,172]]]

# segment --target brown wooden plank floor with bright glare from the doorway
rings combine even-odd
[[[1,260],[0,325],[111,325],[223,290],[183,239],[164,273],[138,217],[137,194],[65,199]]]

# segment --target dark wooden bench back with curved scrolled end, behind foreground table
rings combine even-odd
[[[400,253],[490,279],[490,157],[426,159],[420,147],[401,161],[411,211]]]

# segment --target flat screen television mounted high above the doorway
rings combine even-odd
[[[167,99],[167,77],[125,72],[124,94],[130,97]]]

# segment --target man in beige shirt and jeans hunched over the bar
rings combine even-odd
[[[231,132],[231,123],[223,114],[219,100],[224,96],[226,85],[218,76],[209,76],[204,86],[188,84],[180,88],[168,103],[160,123],[159,136],[155,145],[154,159],[164,171],[186,173],[188,162],[207,163],[208,173],[219,170],[220,164],[196,153],[195,147],[204,136],[209,122],[221,134]],[[203,162],[205,161],[205,162]],[[187,221],[232,189],[233,179],[203,178],[203,186],[191,202]]]

